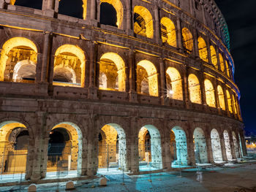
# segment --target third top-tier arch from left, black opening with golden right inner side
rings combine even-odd
[[[100,0],[100,21],[104,25],[122,28],[124,7],[120,0]]]

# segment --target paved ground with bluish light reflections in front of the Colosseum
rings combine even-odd
[[[180,177],[181,176],[181,177]],[[256,192],[256,163],[230,164],[225,167],[184,170],[183,172],[164,172],[157,174],[107,175],[108,186],[100,187],[97,180],[75,182],[76,191],[223,191]],[[124,182],[124,184],[123,184]],[[94,185],[94,188],[92,188]],[[38,186],[38,191],[65,191],[65,183],[50,183]],[[0,188],[0,191],[27,191],[28,186]]]

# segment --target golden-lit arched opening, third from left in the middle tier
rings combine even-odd
[[[99,60],[99,88],[125,91],[125,64],[117,53],[105,53]]]

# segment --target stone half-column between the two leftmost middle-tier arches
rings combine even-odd
[[[48,80],[48,64],[49,64],[49,52],[50,52],[50,32],[45,31],[44,47],[42,50],[42,72],[41,82],[47,82]]]

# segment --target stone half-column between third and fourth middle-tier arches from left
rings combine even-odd
[[[128,52],[128,67],[129,67],[129,101],[137,103],[137,92],[135,91],[135,50]]]

